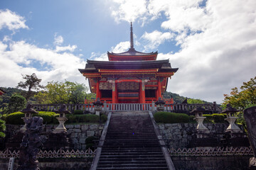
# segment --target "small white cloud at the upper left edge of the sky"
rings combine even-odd
[[[25,18],[10,11],[9,9],[0,10],[0,30],[2,28],[8,28],[9,30],[18,30],[20,28],[28,28],[25,22],[26,22]]]

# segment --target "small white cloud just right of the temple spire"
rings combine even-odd
[[[153,50],[166,40],[170,40],[174,37],[174,34],[169,32],[161,33],[159,30],[154,30],[152,33],[145,32],[142,38],[146,40],[147,44],[144,46],[146,50]]]

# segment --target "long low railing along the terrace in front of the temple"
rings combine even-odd
[[[60,108],[60,104],[33,104],[36,111],[56,111]],[[75,110],[82,110],[84,112],[94,111],[93,104],[66,104],[68,111],[74,113]],[[175,113],[189,113],[193,108],[201,106],[210,113],[220,113],[222,110],[216,103],[207,104],[187,104],[187,103],[173,103],[165,104],[164,111]],[[154,103],[104,103],[102,111],[156,111],[156,104]]]

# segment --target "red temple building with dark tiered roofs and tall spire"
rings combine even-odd
[[[87,60],[80,73],[88,79],[90,91],[107,103],[151,103],[162,97],[168,78],[178,68],[169,60],[156,60],[158,52],[134,49],[131,23],[130,48],[127,52],[107,52],[109,61]],[[173,101],[172,101],[173,102]]]

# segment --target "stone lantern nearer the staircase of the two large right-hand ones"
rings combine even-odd
[[[205,111],[206,110],[202,107],[196,107],[191,111],[191,113],[194,113],[196,115],[195,120],[198,123],[196,127],[196,131],[198,132],[198,138],[208,137],[208,134],[210,133],[208,128],[206,128],[206,126],[203,125],[203,120],[206,119],[206,117],[203,117],[203,112]]]

